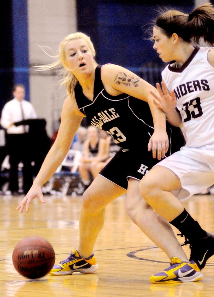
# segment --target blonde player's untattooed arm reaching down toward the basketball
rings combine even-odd
[[[48,181],[62,163],[70,149],[70,145],[80,126],[82,118],[83,116],[78,110],[75,98],[73,97],[71,99],[70,97],[67,97],[62,107],[61,124],[56,140],[45,157],[43,165],[35,178],[31,189],[16,208],[17,210],[20,210],[20,213],[23,212],[25,205],[26,212],[28,212],[31,201],[36,197],[39,197],[40,201],[45,203],[41,187]]]

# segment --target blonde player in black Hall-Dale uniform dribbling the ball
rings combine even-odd
[[[148,170],[165,154],[170,155],[184,144],[180,128],[167,124],[165,113],[153,103],[150,90],[158,95],[153,86],[121,66],[97,65],[94,57],[90,38],[76,32],[61,42],[56,62],[44,66],[44,69],[62,67],[68,96],[56,140],[31,189],[17,207],[22,213],[26,206],[28,212],[36,197],[45,203],[41,187],[61,164],[84,116],[89,123],[112,135],[121,147],[84,192],[78,249],[53,267],[50,272],[53,275],[97,270],[93,248],[103,227],[104,208],[125,193],[127,211],[139,228],[169,258],[178,250],[186,257],[170,224],[152,210],[139,192],[139,182]]]

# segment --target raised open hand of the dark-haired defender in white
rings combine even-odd
[[[161,108],[163,112],[168,114],[171,111],[173,111],[176,107],[177,99],[175,97],[175,93],[174,91],[169,92],[163,81],[161,82],[161,86],[159,83],[156,83],[156,87],[160,97],[158,97],[155,93],[150,91],[150,94],[152,94],[152,96],[154,97],[153,102],[156,106]]]

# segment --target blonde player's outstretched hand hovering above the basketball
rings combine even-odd
[[[39,186],[32,186],[27,193],[27,195],[18,203],[16,210],[20,210],[20,213],[23,213],[24,207],[26,205],[26,212],[29,211],[30,203],[34,198],[39,198],[42,203],[45,203],[43,198],[42,188]]]

